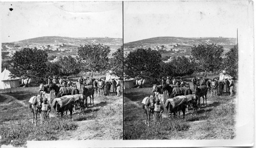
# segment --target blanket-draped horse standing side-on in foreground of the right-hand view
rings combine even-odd
[[[178,105],[174,105],[171,103],[172,101],[179,101],[180,99],[180,102]],[[179,111],[179,116],[180,116],[180,111],[182,111],[183,113],[183,119],[185,118],[185,111],[186,111],[186,107],[188,105],[193,105],[193,108],[194,108],[194,112],[195,113],[195,110],[196,110],[196,114],[197,114],[197,109],[198,109],[198,106],[197,106],[197,97],[196,95],[186,95],[186,96],[177,96],[175,98],[171,98],[171,99],[167,99],[166,102],[165,102],[165,108],[167,109],[168,113],[169,114],[172,114],[174,113],[174,116],[176,115],[176,113]]]

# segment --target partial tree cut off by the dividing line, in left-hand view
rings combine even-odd
[[[123,77],[123,46],[117,49],[112,55],[113,58],[110,58],[109,64],[111,66],[111,71],[114,74]]]

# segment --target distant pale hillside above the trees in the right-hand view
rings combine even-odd
[[[139,40],[135,42],[125,43],[124,48],[133,47],[146,47],[154,45],[175,45],[179,44],[181,47],[192,47],[199,44],[212,44],[222,45],[225,48],[232,48],[236,45],[236,38],[182,38],[182,37],[156,37],[150,39]]]

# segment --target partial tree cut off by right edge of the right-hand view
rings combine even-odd
[[[226,53],[226,58],[224,59],[224,66],[227,73],[233,76],[238,75],[238,48],[234,46]]]

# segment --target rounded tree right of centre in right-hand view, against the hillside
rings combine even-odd
[[[206,71],[216,71],[222,65],[223,46],[216,44],[206,44],[191,47],[191,53],[199,60],[200,66]]]

